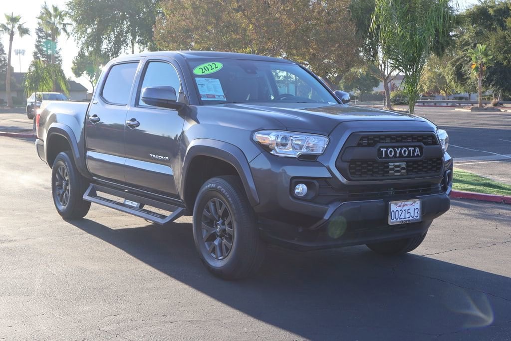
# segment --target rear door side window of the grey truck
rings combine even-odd
[[[127,105],[138,62],[113,65],[101,96],[110,104]]]

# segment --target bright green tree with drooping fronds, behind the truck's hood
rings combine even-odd
[[[376,0],[371,29],[390,66],[404,75],[410,113],[421,93],[427,58],[449,41],[452,13],[449,0]]]

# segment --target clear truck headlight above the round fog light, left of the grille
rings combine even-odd
[[[321,155],[329,139],[323,135],[301,132],[262,130],[253,135],[253,140],[278,156],[298,157],[301,154]]]

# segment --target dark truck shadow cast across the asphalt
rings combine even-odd
[[[271,247],[257,276],[227,282],[200,263],[189,223],[120,229],[87,219],[72,223],[298,338],[481,340],[511,335],[511,279],[490,272],[413,254],[380,257],[365,246],[310,253]]]

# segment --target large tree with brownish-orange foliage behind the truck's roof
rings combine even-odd
[[[165,0],[159,50],[217,50],[293,59],[335,87],[359,59],[349,0]]]

